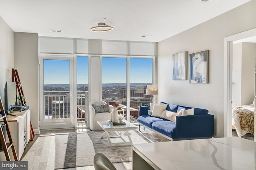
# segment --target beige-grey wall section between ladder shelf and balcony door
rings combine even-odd
[[[18,70],[26,104],[31,110],[34,133],[39,133],[38,116],[38,34],[14,33],[15,68]]]

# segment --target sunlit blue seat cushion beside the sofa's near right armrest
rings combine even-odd
[[[175,123],[172,121],[155,121],[152,123],[152,129],[158,131],[172,139],[176,139]]]

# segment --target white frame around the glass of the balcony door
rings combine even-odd
[[[51,123],[58,123],[63,125],[44,125],[44,59],[46,60],[68,60],[69,63],[69,84],[70,84],[70,118],[66,119],[52,119]],[[76,123],[76,111],[74,105],[74,55],[39,55],[38,58],[39,69],[39,127],[40,129],[62,129],[62,128],[74,128]],[[66,124],[65,124],[66,123]]]

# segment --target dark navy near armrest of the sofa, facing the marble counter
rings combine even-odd
[[[176,117],[176,135],[178,138],[213,137],[213,115],[187,115]]]

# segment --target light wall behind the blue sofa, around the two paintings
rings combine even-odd
[[[158,43],[158,102],[208,109],[214,115],[214,137],[224,136],[224,37],[256,27],[256,0]],[[209,53],[209,83],[172,80],[172,55]],[[189,127],[188,127],[189,128]]]

